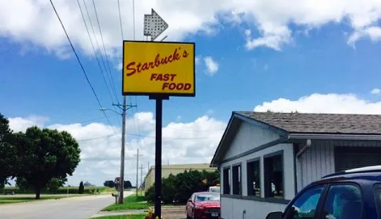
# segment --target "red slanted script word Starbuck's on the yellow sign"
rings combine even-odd
[[[143,64],[140,63],[140,62],[138,64],[136,64],[135,61],[131,61],[130,63],[128,63],[126,65],[126,69],[128,71],[126,73],[126,76],[132,76],[135,73],[140,73],[140,72],[147,71],[147,70],[150,70],[150,69],[155,69],[155,67],[166,65],[166,64],[172,63],[174,61],[178,61],[178,60],[181,59],[181,56],[180,56],[180,54],[178,52],[179,50],[181,50],[181,47],[174,49],[174,53],[173,54],[170,54],[170,55],[168,55],[167,57],[164,57],[164,58],[160,57],[160,54],[157,53],[154,61],[145,62]],[[188,55],[189,55],[188,52],[186,52],[184,50],[182,57],[183,58],[187,58]],[[151,76],[151,78],[152,78],[152,76]],[[174,76],[172,76],[171,81],[173,81],[173,78],[174,78]]]

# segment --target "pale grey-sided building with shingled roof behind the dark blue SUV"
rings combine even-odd
[[[381,165],[381,115],[233,112],[211,165],[222,218],[266,218],[326,174]]]

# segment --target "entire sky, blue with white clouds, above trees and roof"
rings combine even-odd
[[[54,2],[102,106],[111,108],[112,101],[77,6],[68,1]],[[131,2],[123,1],[126,11],[123,25],[125,39],[131,40],[128,3]],[[52,8],[38,2],[23,7],[17,4],[4,8],[4,16],[0,16],[0,23],[8,20],[7,25],[0,28],[1,114],[10,119],[16,131],[31,125],[50,126],[68,130],[78,140],[114,134],[99,111],[59,23],[54,20]],[[371,1],[367,1],[367,10],[363,11],[356,11],[355,4],[327,6],[325,1],[315,8],[321,13],[298,6],[290,12],[284,12],[282,6],[265,7],[270,10],[267,16],[248,1],[237,4],[224,1],[221,6],[210,1],[210,8],[201,7],[199,1],[188,8],[176,3],[168,9],[166,1],[152,0],[151,4],[167,18],[169,30],[164,33],[169,36],[167,40],[195,42],[198,59],[196,96],[171,97],[164,101],[163,133],[169,138],[164,142],[167,148],[164,160],[210,162],[234,110],[381,112],[381,90],[377,90],[381,88],[381,9]],[[121,70],[117,66],[121,62],[122,42],[114,7],[114,4],[99,6],[99,16],[121,101]],[[140,31],[143,19],[140,18],[150,13],[151,6],[138,2],[136,7],[136,36],[140,40],[143,38]],[[23,12],[18,22],[11,19],[15,13],[7,13],[14,8]],[[75,9],[72,13],[76,16],[71,16],[68,8]],[[38,10],[40,16],[35,16]],[[372,17],[372,12],[378,16]],[[179,21],[181,14],[188,19],[188,24]],[[51,18],[49,23],[44,23],[49,20],[46,16]],[[95,15],[90,16],[95,23]],[[208,71],[205,58],[214,62],[213,72]],[[148,136],[127,137],[130,146],[127,162],[131,170],[126,171],[135,182],[132,155],[135,148],[142,150],[145,166],[147,162],[153,164],[155,142],[150,136],[155,134],[155,102],[148,97],[131,97],[131,100],[138,107],[128,112],[135,114],[128,117],[128,132]],[[119,134],[118,117],[113,112],[107,114]],[[189,140],[179,141],[179,138]],[[101,184],[107,177],[112,178],[119,167],[119,145],[119,136],[80,141],[84,161],[69,183],[88,179]],[[107,155],[102,157],[102,153]]]

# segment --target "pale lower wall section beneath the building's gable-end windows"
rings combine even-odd
[[[267,213],[284,211],[286,205],[246,199],[221,198],[221,215],[224,219],[265,219]],[[243,211],[246,211],[243,217]]]

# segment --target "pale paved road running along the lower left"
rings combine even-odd
[[[125,197],[133,194],[124,191]],[[85,219],[114,203],[110,194],[97,196],[81,196],[65,199],[32,201],[0,205],[0,218],[12,219]]]

